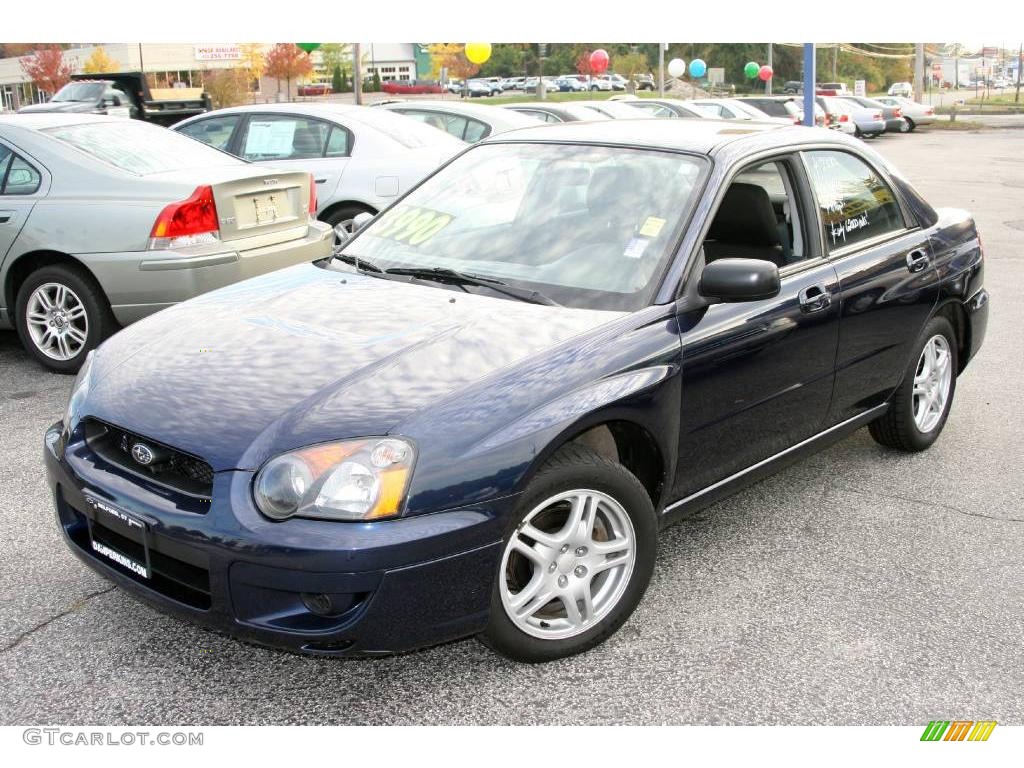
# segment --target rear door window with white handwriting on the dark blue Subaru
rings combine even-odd
[[[804,157],[830,251],[906,228],[895,194],[862,160],[827,151]]]

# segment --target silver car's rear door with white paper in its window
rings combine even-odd
[[[304,115],[254,113],[234,139],[233,154],[283,171],[311,173],[318,212],[334,200],[352,144],[352,132],[336,122]]]

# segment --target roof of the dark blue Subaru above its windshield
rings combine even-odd
[[[556,123],[521,128],[482,143],[537,141],[560,143],[615,144],[653,150],[675,150],[712,155],[725,144],[751,137],[775,138],[771,143],[787,145],[811,141],[841,142],[836,131],[802,126],[785,126],[756,120],[602,120]],[[764,143],[764,141],[762,141]]]

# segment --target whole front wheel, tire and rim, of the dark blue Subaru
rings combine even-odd
[[[527,486],[505,539],[480,639],[518,662],[550,662],[610,637],[654,568],[650,497],[625,467],[568,445]]]

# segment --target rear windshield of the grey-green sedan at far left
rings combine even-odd
[[[240,162],[175,131],[137,120],[80,123],[47,128],[43,133],[137,176]]]

